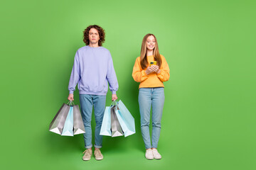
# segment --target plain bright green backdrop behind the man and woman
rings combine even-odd
[[[254,1],[25,0],[0,6],[4,169],[256,169]],[[82,161],[82,135],[48,131],[68,102],[75,52],[91,24],[105,29],[117,96],[137,130],[126,138],[104,137],[101,162]],[[144,158],[139,84],[132,79],[146,33],[156,35],[171,74],[164,83],[163,158],[151,161]]]

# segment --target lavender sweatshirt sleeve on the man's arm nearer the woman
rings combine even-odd
[[[114,64],[111,55],[109,54],[108,64],[107,64],[107,81],[110,84],[110,91],[112,94],[116,94],[118,89],[117,75],[114,72]]]

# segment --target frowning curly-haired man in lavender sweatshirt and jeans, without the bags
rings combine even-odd
[[[105,112],[108,84],[112,91],[112,101],[117,100],[117,76],[110,51],[102,47],[105,41],[105,31],[97,25],[88,26],[83,32],[86,46],[75,53],[73,69],[68,84],[68,100],[73,101],[75,86],[78,84],[82,120],[85,125],[85,152],[82,159],[87,161],[92,156],[92,106],[95,111],[95,159],[102,160],[100,152],[102,136],[100,128]]]

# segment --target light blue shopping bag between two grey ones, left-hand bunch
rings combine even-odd
[[[73,136],[73,106],[70,106],[70,110],[68,112],[68,116],[65,120],[63,132],[61,133],[62,136]]]

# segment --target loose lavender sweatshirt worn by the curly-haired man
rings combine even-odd
[[[78,84],[79,94],[106,95],[107,82],[112,94],[116,94],[118,82],[110,51],[88,45],[78,49],[68,84],[70,94]]]

